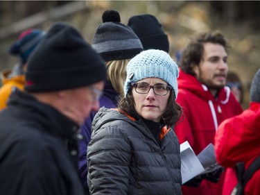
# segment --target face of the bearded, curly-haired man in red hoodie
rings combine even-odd
[[[196,78],[206,85],[211,93],[225,86],[227,78],[227,53],[220,44],[207,42],[200,64],[193,66]]]

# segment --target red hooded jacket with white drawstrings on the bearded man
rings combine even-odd
[[[200,151],[212,143],[218,125],[230,117],[241,114],[243,109],[228,87],[218,91],[215,98],[196,77],[180,70],[177,79],[177,103],[182,106],[184,118],[175,126],[175,133],[182,142],[188,141],[193,151]],[[223,176],[218,183],[203,180],[199,187],[182,186],[183,195],[220,195]]]

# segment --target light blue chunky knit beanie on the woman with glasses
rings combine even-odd
[[[161,78],[173,87],[175,99],[177,98],[177,77],[179,69],[171,56],[165,51],[148,49],[132,58],[126,67],[126,80],[124,93],[128,93],[131,83],[144,78]]]

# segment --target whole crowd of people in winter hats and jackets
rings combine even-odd
[[[10,47],[19,62],[1,77],[0,194],[235,195],[236,165],[260,154],[260,69],[243,110],[221,31],[194,35],[173,60],[154,15],[101,18],[92,44],[55,22]],[[196,155],[214,144],[218,167],[182,183],[184,142]],[[258,170],[244,194],[259,182]]]

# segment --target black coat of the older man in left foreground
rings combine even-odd
[[[0,194],[83,195],[78,125],[16,90],[0,113]]]

